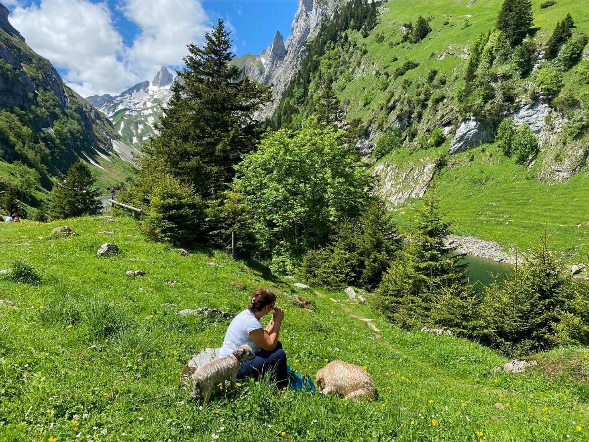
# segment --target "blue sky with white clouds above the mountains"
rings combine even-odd
[[[234,52],[259,54],[284,38],[297,0],[0,0],[27,43],[83,96],[118,94],[181,67],[217,18],[233,31]]]

